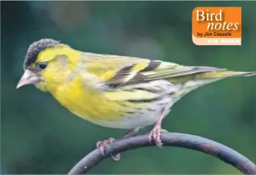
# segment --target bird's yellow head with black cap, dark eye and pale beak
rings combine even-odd
[[[66,44],[53,39],[41,39],[32,43],[23,63],[24,74],[17,88],[34,84],[46,91],[64,83],[77,52]]]

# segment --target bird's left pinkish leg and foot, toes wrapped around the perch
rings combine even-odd
[[[124,136],[121,137],[121,139],[127,138],[127,137],[131,137],[134,136],[135,134],[138,133],[138,131],[140,130],[140,128],[133,128],[131,131],[128,131],[127,133],[124,134]],[[102,152],[102,155],[105,155],[104,153],[104,149],[108,144],[112,144],[113,141],[115,141],[116,139],[114,139],[113,137],[110,137],[108,140],[105,141],[97,141],[97,148],[99,148],[100,152]],[[113,160],[120,160],[120,153],[117,153],[116,155],[111,155],[111,157],[113,158]]]

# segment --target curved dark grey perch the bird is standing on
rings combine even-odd
[[[129,138],[116,140],[113,144],[105,147],[105,156],[101,154],[99,149],[95,149],[81,159],[72,169],[69,174],[86,174],[91,168],[96,166],[105,158],[110,157],[111,154],[124,152],[129,149],[136,149],[140,147],[155,146],[154,143],[149,143],[147,134],[138,135]],[[183,147],[187,149],[194,149],[204,152],[208,155],[219,158],[225,163],[229,163],[236,167],[244,174],[256,174],[255,164],[249,159],[223,144],[216,141],[211,141],[200,136],[193,136],[185,133],[169,133],[162,132],[162,143],[170,147]],[[159,150],[160,151],[160,150]]]

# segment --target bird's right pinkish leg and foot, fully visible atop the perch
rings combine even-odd
[[[154,125],[154,128],[150,131],[148,135],[148,141],[151,142],[152,139],[156,143],[157,147],[162,148],[161,132],[166,131],[162,129],[162,120],[164,119],[166,109],[162,110],[162,113]]]

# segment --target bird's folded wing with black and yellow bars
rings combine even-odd
[[[105,74],[102,74],[101,80],[108,87],[117,88],[154,79],[170,79],[171,77],[219,70],[224,69],[206,66],[181,66],[163,61],[141,60],[138,63],[124,66],[117,71],[106,71]]]

